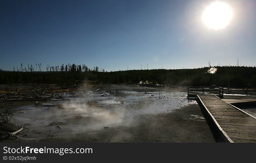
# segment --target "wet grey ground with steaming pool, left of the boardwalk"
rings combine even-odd
[[[184,88],[111,85],[60,92],[61,99],[6,103],[23,126],[7,142],[215,142]],[[2,103],[3,104],[3,103]]]

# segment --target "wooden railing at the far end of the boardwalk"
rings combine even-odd
[[[218,95],[223,98],[223,87],[188,87],[188,97],[196,95]]]

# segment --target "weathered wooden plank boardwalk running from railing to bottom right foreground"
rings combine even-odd
[[[214,125],[227,142],[256,143],[256,118],[216,96],[197,95]]]

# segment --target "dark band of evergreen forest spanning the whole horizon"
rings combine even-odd
[[[176,86],[256,87],[256,68],[239,66],[217,66],[217,72],[207,73],[209,67],[197,69],[152,69],[107,72],[96,66],[61,65],[47,67],[47,71],[3,71],[0,70],[1,84],[58,83],[72,85],[83,80],[97,83],[132,84],[142,81]],[[40,69],[39,69],[40,71]]]

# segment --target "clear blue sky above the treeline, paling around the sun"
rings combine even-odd
[[[0,69],[28,64],[98,66],[107,71],[255,66],[256,1],[225,1],[221,30],[202,22],[210,0],[1,0]]]

